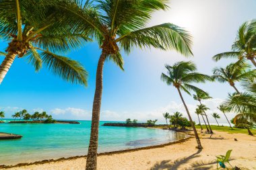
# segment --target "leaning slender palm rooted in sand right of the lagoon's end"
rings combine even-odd
[[[166,82],[167,85],[173,85],[179,92],[185,110],[187,111],[187,115],[189,116],[189,121],[191,122],[193,131],[195,133],[197,148],[201,149],[203,147],[201,146],[197,130],[195,129],[195,125],[189,114],[189,109],[187,108],[187,105],[183,99],[181,90],[185,91],[189,95],[191,95],[191,93],[189,93],[190,90],[204,92],[203,90],[195,87],[194,85],[191,85],[190,83],[204,83],[206,80],[211,81],[212,79],[210,76],[203,75],[201,73],[195,73],[194,71],[196,71],[196,67],[193,62],[176,62],[172,66],[166,65],[166,69],[168,71],[168,74],[165,75],[164,73],[162,73],[161,79],[162,81]]]

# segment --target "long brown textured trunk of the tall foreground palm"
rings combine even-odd
[[[96,73],[96,89],[94,93],[94,103],[92,108],[92,126],[90,134],[90,144],[86,161],[86,170],[97,169],[97,150],[98,150],[98,126],[100,122],[100,105],[103,89],[103,67],[106,59],[106,53],[102,51],[98,60]]]

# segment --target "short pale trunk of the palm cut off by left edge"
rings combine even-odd
[[[0,66],[0,85],[3,82],[5,75],[9,71],[15,57],[16,57],[15,52],[11,52],[11,51],[9,51],[8,54],[5,56],[5,59],[3,60]]]

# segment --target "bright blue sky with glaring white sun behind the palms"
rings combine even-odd
[[[129,56],[123,54],[124,72],[112,62],[106,62],[101,120],[136,118],[164,122],[162,112],[174,111],[186,116],[176,89],[160,81],[164,65],[193,60],[199,72],[209,75],[214,67],[225,66],[230,60],[214,62],[212,56],[230,50],[238,27],[256,18],[255,7],[254,0],[172,0],[170,10],[155,13],[149,26],[170,22],[186,28],[193,35],[194,56],[185,58],[173,51],[134,48]],[[1,50],[6,46],[6,42],[0,41]],[[82,62],[89,73],[88,87],[67,83],[45,68],[35,73],[26,58],[17,58],[0,85],[0,108],[7,118],[26,108],[30,112],[45,110],[58,119],[90,120],[100,49],[98,44],[88,43],[66,56]],[[205,101],[210,112],[218,112],[216,106],[228,92],[233,92],[227,84],[197,86],[214,97]],[[184,97],[193,114],[196,101],[189,95],[184,94]],[[195,114],[193,118],[196,118]],[[225,122],[223,116],[221,122]]]

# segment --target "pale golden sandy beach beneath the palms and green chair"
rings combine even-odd
[[[232,149],[230,164],[241,169],[256,169],[256,137],[247,134],[228,134],[214,131],[200,134],[203,150],[198,151],[195,138],[129,153],[100,155],[98,169],[216,169],[217,155]],[[236,138],[238,141],[235,141]],[[72,159],[41,165],[13,167],[11,169],[85,169],[86,159]]]

